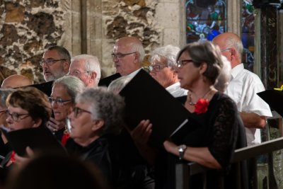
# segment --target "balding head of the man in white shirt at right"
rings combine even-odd
[[[222,55],[231,62],[232,68],[241,64],[243,43],[238,35],[235,33],[221,33],[212,40],[212,43],[219,46]]]

